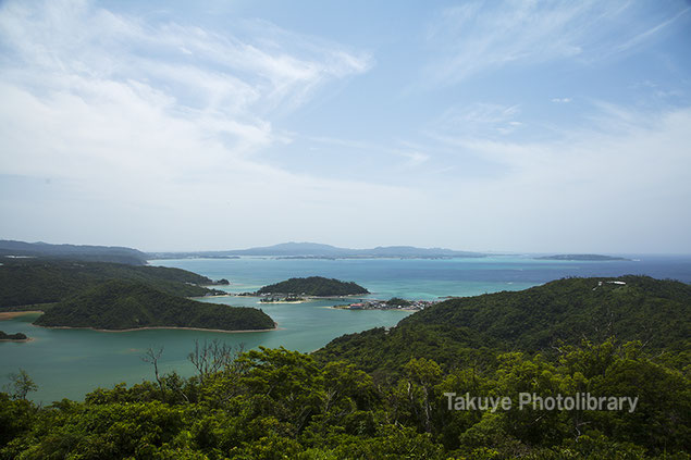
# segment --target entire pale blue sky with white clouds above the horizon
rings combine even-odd
[[[691,253],[688,1],[0,1],[0,238]]]

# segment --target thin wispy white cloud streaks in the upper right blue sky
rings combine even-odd
[[[661,18],[624,0],[467,2],[443,10],[429,26],[433,59],[423,78],[455,84],[508,65],[609,58],[650,40],[688,11],[677,10]]]

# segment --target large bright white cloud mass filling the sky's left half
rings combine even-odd
[[[4,235],[230,247],[239,215],[299,225],[415,200],[404,187],[289,173],[255,154],[289,142],[276,114],[367,72],[367,53],[147,24],[87,1],[5,2],[0,41],[0,179],[52,184],[0,200]],[[252,227],[274,240],[308,236]]]

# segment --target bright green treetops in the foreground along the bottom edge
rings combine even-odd
[[[98,389],[37,408],[0,394],[0,458],[646,459],[688,458],[689,376],[639,343],[498,353],[497,365],[444,372],[410,360],[377,385],[342,361],[251,350],[221,371],[162,385]],[[162,389],[161,389],[162,388]],[[628,411],[448,410],[444,393],[637,395]]]

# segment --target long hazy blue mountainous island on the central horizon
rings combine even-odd
[[[280,259],[451,259],[451,258],[482,258],[481,252],[456,251],[445,248],[416,248],[412,246],[378,246],[371,249],[338,248],[318,243],[282,243],[249,249],[226,251],[197,252],[153,252],[150,259],[175,258],[212,258],[234,259],[239,256],[275,257]]]

